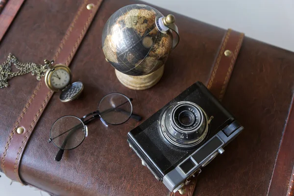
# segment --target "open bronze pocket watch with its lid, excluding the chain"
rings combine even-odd
[[[45,60],[45,65],[49,65],[49,63],[52,64],[52,61]],[[61,91],[59,99],[62,102],[68,102],[78,98],[84,89],[83,83],[81,82],[71,83],[71,70],[62,64],[56,64],[50,68],[45,74],[44,79],[46,86],[51,91]]]

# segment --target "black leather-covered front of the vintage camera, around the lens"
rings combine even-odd
[[[214,117],[204,141],[191,150],[179,150],[168,146],[159,133],[161,115],[171,104],[180,101],[194,102],[205,111],[208,118]],[[196,82],[144,123],[131,130],[128,133],[128,142],[157,177],[162,180],[165,174],[172,171],[180,162],[201,147],[203,143],[233,121],[234,116],[221,105],[219,100],[211,94],[204,84]]]

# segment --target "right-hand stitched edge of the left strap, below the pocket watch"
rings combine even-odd
[[[27,142],[27,140],[28,140],[28,138],[29,138],[30,132],[32,131],[32,129],[33,129],[33,127],[34,127],[34,125],[35,125],[35,123],[36,123],[36,121],[37,121],[39,115],[40,115],[40,114],[42,113],[42,111],[44,110],[44,106],[46,105],[47,101],[49,100],[49,96],[50,96],[51,94],[52,94],[52,91],[49,91],[48,94],[47,94],[47,96],[46,96],[46,98],[45,98],[45,100],[43,101],[43,103],[42,103],[42,105],[41,105],[39,111],[37,112],[37,114],[36,114],[36,116],[35,116],[33,122],[32,122],[31,125],[29,126],[29,129],[28,129],[28,131],[26,132],[26,135],[25,135],[24,141],[22,142],[22,146],[20,147],[20,149],[19,149],[19,151],[18,151],[18,153],[17,153],[17,157],[16,157],[16,159],[15,159],[15,165],[14,165],[14,173],[15,173],[16,177],[18,178],[19,182],[22,182],[22,181],[21,181],[21,179],[20,179],[20,176],[19,176],[18,173],[17,173],[17,166],[18,166],[18,163],[19,163],[18,161],[19,161],[19,158],[20,158],[21,151],[24,149],[24,146],[25,146],[25,144],[26,144],[26,142]]]

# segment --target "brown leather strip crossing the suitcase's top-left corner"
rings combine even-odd
[[[0,41],[25,0],[0,0]]]

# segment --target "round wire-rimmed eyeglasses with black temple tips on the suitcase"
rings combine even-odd
[[[99,118],[105,126],[122,124],[129,118],[141,121],[139,115],[133,114],[132,100],[123,94],[111,93],[100,100],[98,110],[82,118],[63,116],[57,119],[51,126],[48,140],[59,148],[55,160],[60,161],[64,150],[74,149],[84,141],[88,136],[87,124],[95,119]]]

